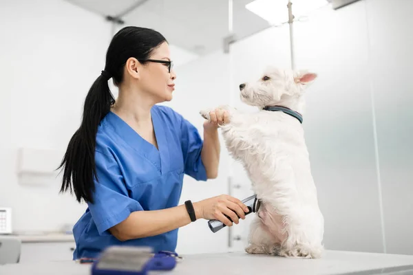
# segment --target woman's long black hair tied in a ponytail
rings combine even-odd
[[[162,34],[147,28],[125,27],[114,35],[107,49],[105,70],[87,93],[81,126],[72,136],[58,168],[64,166],[60,192],[70,188],[72,193],[73,185],[77,201],[84,199],[93,203],[94,177],[97,180],[94,162],[96,133],[100,121],[109,113],[115,101],[108,80],[112,77],[115,85],[122,83],[123,68],[128,58],[147,59],[164,42],[167,40]]]

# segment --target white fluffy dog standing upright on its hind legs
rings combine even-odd
[[[324,217],[300,121],[304,91],[316,77],[269,68],[259,80],[240,85],[241,100],[260,111],[219,107],[229,112],[230,122],[220,126],[226,147],[242,162],[262,201],[251,225],[248,253],[319,258],[324,250]],[[209,120],[210,111],[200,113]]]

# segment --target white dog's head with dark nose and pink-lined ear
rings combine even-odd
[[[258,80],[240,85],[240,98],[257,107],[297,101],[315,78],[317,74],[306,71],[268,67]]]

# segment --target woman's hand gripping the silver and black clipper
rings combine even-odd
[[[227,226],[233,223],[224,215],[231,218],[231,220],[238,224],[239,218],[245,219],[245,212],[248,212],[248,207],[239,199],[229,195],[220,195],[210,199],[204,199],[193,203],[195,214],[197,218],[201,219],[218,219]]]

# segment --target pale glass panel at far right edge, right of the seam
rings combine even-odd
[[[386,247],[413,254],[413,2],[372,0],[366,8]]]

